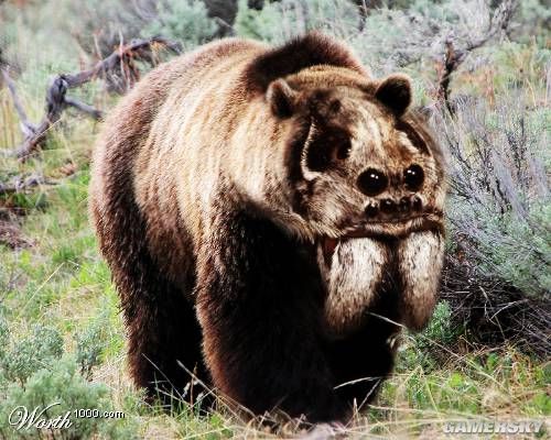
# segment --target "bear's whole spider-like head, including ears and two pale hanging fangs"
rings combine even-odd
[[[422,328],[435,304],[443,158],[421,116],[408,111],[411,95],[407,76],[372,80],[335,66],[303,69],[267,89],[273,116],[292,127],[291,210],[299,232],[316,241],[337,337],[361,321],[390,263],[399,267],[402,322]]]

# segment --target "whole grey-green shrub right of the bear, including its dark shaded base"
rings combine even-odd
[[[545,354],[551,321],[551,208],[547,109],[514,90],[485,100],[458,100],[455,116],[439,113],[450,148],[447,220],[454,252],[443,296],[475,340],[518,342]]]

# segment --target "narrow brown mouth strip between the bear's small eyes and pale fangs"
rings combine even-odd
[[[337,246],[345,241],[356,239],[402,239],[412,232],[437,231],[443,233],[442,212],[424,213],[408,219],[390,219],[385,221],[364,221],[344,229],[339,237],[321,237],[318,245],[327,268],[331,267]]]

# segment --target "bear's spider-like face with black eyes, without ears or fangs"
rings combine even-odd
[[[442,183],[428,141],[359,92],[326,95],[315,97],[301,156],[304,218],[336,239],[399,237],[437,222]]]

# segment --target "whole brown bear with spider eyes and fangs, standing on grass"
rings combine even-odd
[[[310,421],[372,398],[443,260],[442,152],[410,101],[320,33],[213,42],[121,100],[90,210],[137,385],[187,398],[193,372]]]

